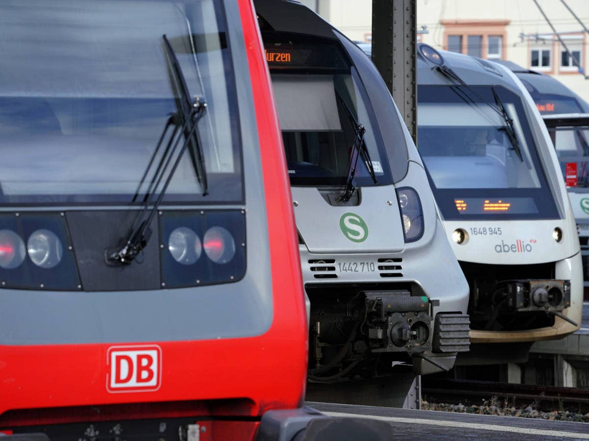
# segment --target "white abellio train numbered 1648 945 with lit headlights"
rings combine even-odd
[[[470,286],[472,343],[579,328],[575,219],[540,113],[515,75],[418,46],[418,148]]]

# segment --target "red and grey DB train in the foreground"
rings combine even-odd
[[[8,1],[0,45],[0,437],[262,437],[307,324],[252,3]]]

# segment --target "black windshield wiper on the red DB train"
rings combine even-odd
[[[190,95],[188,94],[188,88],[186,86],[186,80],[182,74],[176,54],[174,54],[174,49],[170,45],[166,35],[163,36],[163,39],[164,48],[166,48],[167,59],[171,66],[171,73],[173,74],[172,76],[174,82],[176,83],[181,96],[176,99],[176,106],[178,111],[168,118],[166,126],[164,127],[164,131],[162,132],[157,146],[155,147],[155,151],[151,156],[143,178],[141,178],[139,188],[137,189],[137,192],[135,192],[133,201],[135,201],[137,198],[139,189],[141,188],[141,185],[143,185],[143,181],[145,176],[147,176],[148,172],[150,171],[151,165],[153,165],[155,156],[157,155],[164,139],[166,138],[168,129],[172,125],[174,125],[174,129],[166,145],[166,149],[161,156],[160,163],[158,164],[153,178],[151,179],[150,185],[148,186],[147,193],[145,193],[143,208],[135,219],[133,228],[131,229],[131,233],[125,242],[125,245],[122,248],[106,249],[104,252],[105,261],[108,265],[130,265],[141,252],[141,250],[145,248],[148,240],[151,237],[151,221],[153,220],[158,206],[160,206],[160,203],[166,194],[166,190],[170,185],[170,182],[174,176],[174,172],[176,172],[176,169],[178,168],[178,165],[180,164],[180,161],[189,146],[191,159],[193,159],[192,163],[194,172],[196,173],[197,180],[203,189],[203,196],[207,195],[206,171],[204,168],[204,158],[197,130],[198,121],[200,121],[200,119],[204,116],[204,113],[207,109],[207,103],[203,97],[195,97],[194,100],[190,98]],[[177,136],[178,131],[180,131],[180,133],[184,136],[184,143],[176,155],[178,145],[180,145],[180,140],[182,139],[181,135]],[[172,163],[172,158],[174,155],[176,155],[176,159],[170,168],[170,163]],[[168,168],[170,169],[168,170]],[[164,185],[161,188],[157,199],[154,201],[157,188],[164,180],[164,176],[166,177]],[[148,212],[148,208],[152,204],[153,208],[151,208],[151,211]]]

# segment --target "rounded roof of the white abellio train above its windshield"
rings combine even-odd
[[[456,82],[436,71],[436,65],[423,56],[422,46],[429,47],[421,43],[418,44],[417,78],[419,85],[455,85]],[[519,89],[504,66],[457,52],[437,52],[442,56],[444,65],[455,71],[469,85],[500,85],[513,90]]]

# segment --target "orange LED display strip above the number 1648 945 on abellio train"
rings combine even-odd
[[[538,213],[534,198],[456,198],[454,205],[461,215]]]

